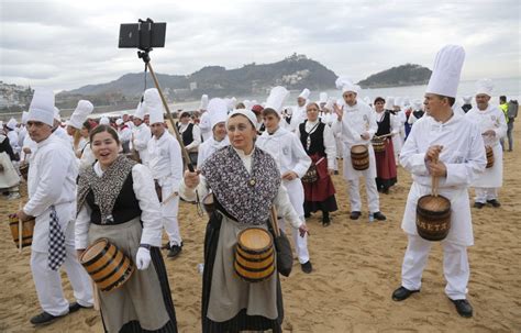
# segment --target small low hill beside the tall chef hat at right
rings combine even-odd
[[[398,67],[374,74],[358,82],[362,88],[386,88],[400,86],[425,85],[431,77],[432,70],[414,64],[406,64]]]

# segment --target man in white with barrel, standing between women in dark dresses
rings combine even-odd
[[[364,102],[358,102],[356,97],[359,87],[345,80],[342,88],[344,104],[335,106],[337,119],[333,122],[333,132],[341,133],[344,149],[344,178],[347,180],[351,202],[351,220],[358,220],[362,215],[362,200],[359,177],[365,178],[365,188],[369,207],[369,220],[384,221],[386,217],[380,212],[378,190],[376,188],[376,159],[375,151],[370,144],[373,135],[378,130],[375,111]],[[351,148],[354,145],[366,145],[369,151],[369,167],[365,170],[355,170],[351,162]]]

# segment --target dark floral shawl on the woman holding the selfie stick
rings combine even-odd
[[[254,149],[248,174],[237,153],[226,146],[204,162],[201,174],[222,207],[240,223],[266,223],[280,187],[280,173],[268,153]]]

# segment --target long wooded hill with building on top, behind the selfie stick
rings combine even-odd
[[[159,67],[159,66],[158,66]],[[226,69],[207,66],[187,76],[156,74],[169,100],[198,99],[202,93],[210,96],[247,96],[266,93],[274,86],[281,85],[289,90],[334,88],[336,75],[322,64],[304,55],[293,54],[273,64],[247,64],[241,68]],[[147,77],[148,87],[152,78]],[[109,99],[135,99],[143,92],[144,74],[125,74],[117,80],[89,85],[58,96],[66,100],[73,96],[100,97]]]

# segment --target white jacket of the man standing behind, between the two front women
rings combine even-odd
[[[159,186],[171,187],[176,192],[182,178],[181,147],[177,140],[165,130],[159,138],[148,141],[148,162],[152,176]]]

